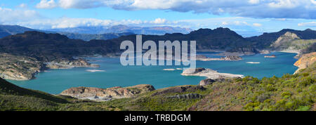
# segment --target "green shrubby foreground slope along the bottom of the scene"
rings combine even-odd
[[[150,91],[132,98],[106,102],[53,96],[40,91],[20,88],[0,79],[0,110],[315,111],[315,69],[316,63],[301,70],[298,74],[284,74],[279,78],[245,77],[218,81],[204,87],[175,86]]]

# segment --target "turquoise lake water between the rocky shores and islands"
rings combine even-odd
[[[208,57],[220,57],[216,53],[200,52]],[[240,61],[197,61],[197,67],[211,68],[222,73],[243,74],[244,76],[281,77],[283,74],[293,74],[297,67],[295,53],[270,53],[277,58],[264,58],[265,54],[245,55]],[[67,88],[86,86],[109,88],[114,86],[134,86],[137,84],[152,84],[155,88],[199,84],[205,77],[181,76],[182,70],[164,71],[167,68],[182,68],[180,66],[127,66],[120,64],[119,58],[88,58],[98,68],[72,68],[69,70],[47,70],[37,74],[37,79],[30,81],[11,81],[24,88],[57,94]],[[246,62],[261,62],[249,64]],[[105,72],[88,72],[87,70],[105,70]]]

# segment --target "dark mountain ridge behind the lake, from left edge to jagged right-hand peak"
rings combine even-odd
[[[72,58],[74,55],[107,55],[117,53],[121,41],[136,42],[136,35],[122,36],[117,39],[83,41],[69,39],[61,34],[25,32],[0,39],[0,52],[14,55],[27,55],[49,62],[56,58]],[[228,28],[199,29],[190,34],[143,35],[147,40],[197,41],[197,50],[225,49],[228,51],[255,51],[243,37]]]

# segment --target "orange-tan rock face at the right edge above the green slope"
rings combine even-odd
[[[301,58],[294,63],[294,65],[298,67],[298,70],[296,70],[294,74],[300,72],[300,70],[303,70],[309,67],[315,61],[316,61],[316,52],[302,55]]]

